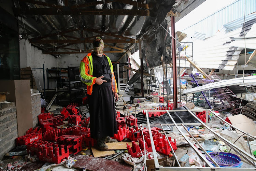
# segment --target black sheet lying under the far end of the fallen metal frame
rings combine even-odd
[[[187,110],[187,108],[182,106],[175,110]],[[180,120],[179,117],[177,117],[174,114],[174,112],[169,112],[169,113],[177,124],[181,124],[183,122],[184,123],[199,123],[198,120],[194,116],[192,116],[189,112],[176,112],[176,114],[182,119],[183,122]],[[173,124],[168,113],[159,116],[157,119],[153,120],[150,123],[151,124]],[[200,123],[199,123],[199,125],[200,125]],[[154,127],[154,126],[151,126],[151,127]],[[161,126],[157,126],[157,127],[161,128]],[[172,130],[172,127],[173,126],[164,126],[163,125],[163,129],[165,129],[165,130]]]

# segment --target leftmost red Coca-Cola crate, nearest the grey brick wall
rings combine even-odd
[[[29,143],[32,143],[33,141],[42,140],[43,136],[42,133],[29,133],[25,136],[21,136],[16,138],[16,145],[27,145]]]

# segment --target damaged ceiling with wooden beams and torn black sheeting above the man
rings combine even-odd
[[[101,36],[104,52],[119,59],[142,40],[144,67],[171,60],[165,18],[180,5],[175,0],[14,0],[14,5],[19,32],[43,54],[89,53],[94,37]]]

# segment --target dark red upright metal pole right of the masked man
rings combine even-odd
[[[173,107],[178,108],[177,104],[177,71],[176,71],[176,42],[175,42],[175,21],[171,16],[171,34],[172,34],[172,76],[173,76]]]

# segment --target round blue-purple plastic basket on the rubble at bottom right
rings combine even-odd
[[[232,153],[226,152],[210,152],[208,153],[213,160],[219,165],[219,167],[236,167],[240,168],[243,165],[241,158]],[[208,156],[206,156],[207,160],[209,160],[213,166],[213,162],[210,160]]]

